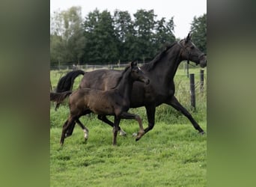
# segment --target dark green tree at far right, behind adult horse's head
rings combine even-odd
[[[194,17],[191,24],[192,41],[202,52],[207,53],[207,14]]]

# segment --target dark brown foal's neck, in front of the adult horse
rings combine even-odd
[[[132,93],[132,83],[133,81],[129,77],[129,73],[124,73],[122,79],[118,83],[118,86],[116,89],[120,93],[124,99],[129,99],[131,93]]]

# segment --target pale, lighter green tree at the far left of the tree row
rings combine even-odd
[[[51,16],[51,62],[79,64],[84,53],[81,7],[55,12]]]

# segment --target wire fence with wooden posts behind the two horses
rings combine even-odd
[[[73,65],[73,66],[51,66],[51,70],[55,70],[55,76],[60,79],[62,76],[66,75],[67,72],[71,70],[122,70],[124,67],[127,67],[128,64],[83,64],[83,65]],[[141,66],[142,64],[138,64]],[[188,66],[180,66],[179,73],[174,76],[175,83],[175,96],[177,99],[188,98],[186,102],[190,102],[192,108],[196,108],[195,102],[201,102],[202,99],[206,100],[207,94],[207,73],[200,68],[191,68],[192,73],[189,73],[189,70],[186,70]],[[190,69],[190,68],[189,68]],[[189,76],[188,76],[189,73]],[[50,82],[52,90],[52,82]],[[189,99],[190,97],[190,99]]]

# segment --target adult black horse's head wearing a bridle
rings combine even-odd
[[[201,52],[191,41],[191,34],[189,33],[186,39],[178,42],[181,47],[182,60],[193,61],[195,64],[200,64],[201,67],[207,66],[207,59],[203,52]]]

